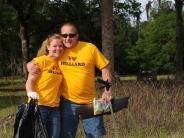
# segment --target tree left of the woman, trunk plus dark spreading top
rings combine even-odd
[[[23,74],[27,77],[26,65],[29,61],[29,32],[28,23],[31,13],[36,6],[37,0],[7,0],[8,4],[12,5],[17,12],[17,19],[19,21],[19,37],[22,45],[22,60],[23,60]],[[40,1],[39,1],[40,2]]]

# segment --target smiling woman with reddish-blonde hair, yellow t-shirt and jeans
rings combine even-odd
[[[42,54],[44,53],[44,54]],[[60,34],[49,36],[42,43],[38,54],[33,59],[40,68],[39,76],[28,75],[26,82],[27,96],[38,100],[43,122],[46,125],[49,138],[60,137],[60,85],[62,73],[58,60],[63,54],[63,44]]]

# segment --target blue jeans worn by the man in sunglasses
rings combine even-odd
[[[79,123],[77,106],[79,104],[61,98],[61,138],[75,138]],[[106,134],[102,117],[84,119],[82,123],[86,138],[99,138]]]

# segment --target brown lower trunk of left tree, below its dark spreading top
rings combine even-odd
[[[21,43],[22,43],[22,61],[23,61],[23,73],[25,76],[25,79],[27,79],[27,62],[29,60],[29,53],[28,53],[28,49],[29,49],[29,39],[28,39],[28,26],[27,23],[25,21],[20,21],[20,33],[19,33],[19,37],[21,39]]]

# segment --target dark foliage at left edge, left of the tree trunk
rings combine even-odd
[[[19,74],[21,47],[17,38],[16,13],[12,7],[0,8],[0,76]]]

